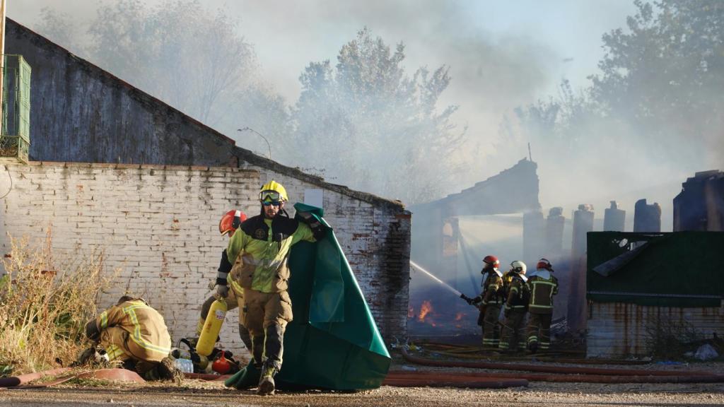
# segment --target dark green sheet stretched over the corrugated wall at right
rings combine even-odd
[[[586,298],[644,306],[718,307],[724,232],[589,232]]]

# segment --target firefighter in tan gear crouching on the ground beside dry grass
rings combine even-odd
[[[115,306],[85,324],[85,335],[100,344],[107,361],[121,361],[147,380],[173,379],[180,382],[181,372],[174,367],[171,336],[159,311],[143,298],[123,295]],[[94,354],[95,347],[90,350]],[[85,351],[80,363],[85,362]]]

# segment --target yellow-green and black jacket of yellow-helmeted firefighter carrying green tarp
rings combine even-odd
[[[262,293],[287,290],[289,251],[302,240],[316,241],[310,227],[296,219],[280,215],[247,219],[229,240],[231,280]]]

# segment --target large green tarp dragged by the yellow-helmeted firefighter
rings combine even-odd
[[[289,257],[294,320],[284,336],[284,361],[277,388],[358,390],[379,387],[390,369],[369,307],[322,209],[295,204],[327,227],[317,243],[301,242]],[[299,219],[299,217],[298,217]],[[253,366],[227,379],[228,387],[256,387]]]

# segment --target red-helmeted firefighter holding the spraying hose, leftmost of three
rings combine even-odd
[[[485,277],[482,281],[482,292],[475,298],[468,298],[461,295],[469,304],[479,304],[480,315],[478,324],[483,331],[483,349],[494,351],[497,349],[500,332],[498,330],[498,317],[500,316],[500,307],[502,306],[502,280],[498,267],[500,261],[495,256],[485,256],[483,259],[483,269],[481,274]]]

